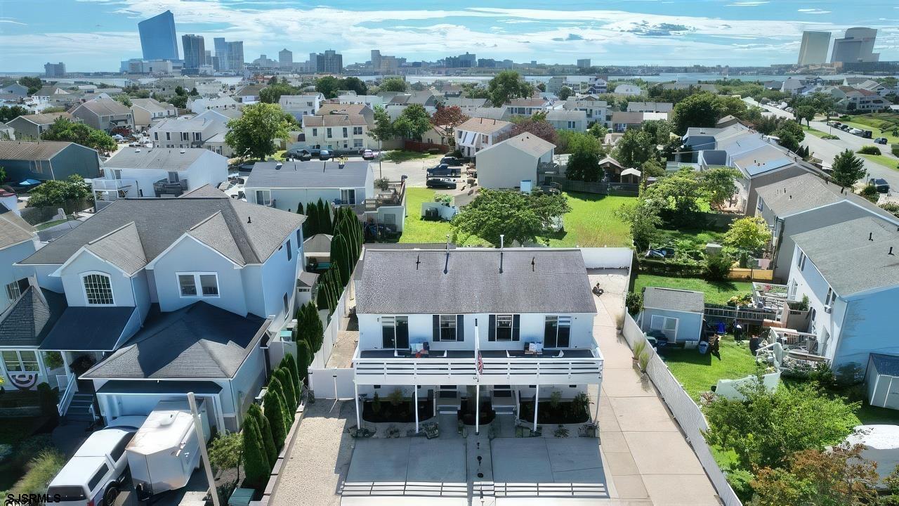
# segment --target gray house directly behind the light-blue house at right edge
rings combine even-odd
[[[868,199],[824,181],[813,174],[801,174],[784,181],[764,185],[755,215],[773,226],[774,278],[786,281],[793,265],[794,234],[821,229],[866,216],[899,226],[899,218]]]

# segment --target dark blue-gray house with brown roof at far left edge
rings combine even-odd
[[[62,180],[78,175],[85,179],[100,176],[97,152],[74,142],[42,140],[0,140],[0,167],[13,183],[25,179]]]

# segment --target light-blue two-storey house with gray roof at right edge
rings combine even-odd
[[[809,351],[834,372],[858,366],[871,353],[899,355],[899,232],[875,217],[843,221],[793,236],[796,250],[788,298],[808,296]]]

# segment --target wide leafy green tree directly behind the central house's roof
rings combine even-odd
[[[550,231],[547,217],[571,211],[564,194],[546,196],[542,198],[539,192],[523,194],[484,188],[453,217],[453,234],[475,235],[496,245],[500,243],[500,234],[505,235],[509,244],[536,242],[539,235]]]

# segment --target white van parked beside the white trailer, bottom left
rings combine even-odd
[[[50,482],[47,494],[65,506],[111,506],[128,468],[125,447],[134,429],[97,430]],[[58,500],[53,500],[58,496]]]

